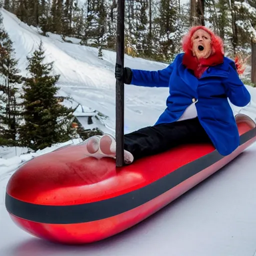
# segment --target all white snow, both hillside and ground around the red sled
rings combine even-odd
[[[46,61],[54,61],[54,71],[60,74],[59,95],[72,97],[65,102],[77,106],[75,115],[104,114],[94,125],[104,132],[115,129],[115,52],[63,42],[58,35],[41,36],[33,27],[22,23],[15,15],[3,10],[3,22],[8,31],[19,68],[25,74],[26,55],[38,46],[40,39],[46,50]],[[161,69],[166,64],[125,56],[125,65],[147,70]],[[256,90],[247,86],[252,100],[244,108],[234,107],[256,120]],[[125,85],[125,133],[153,124],[165,108],[168,88],[143,88]],[[95,112],[94,112],[95,111]],[[84,116],[86,115],[86,116]],[[252,256],[256,251],[256,172],[251,145],[228,166],[166,206],[150,218],[129,230],[95,244],[64,246],[32,237],[19,229],[4,207],[5,187],[13,171],[25,161],[79,139],[54,145],[37,152],[26,148],[0,147],[0,251],[2,256],[25,255],[196,255]],[[254,254],[255,255],[255,254]]]

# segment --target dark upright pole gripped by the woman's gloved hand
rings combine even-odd
[[[124,0],[117,1],[117,31],[116,31],[116,64],[124,64]],[[123,129],[124,129],[124,83],[116,80],[115,85],[115,139],[116,166],[124,165]]]

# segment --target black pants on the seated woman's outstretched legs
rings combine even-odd
[[[148,126],[124,135],[134,160],[184,143],[211,143],[198,118]]]

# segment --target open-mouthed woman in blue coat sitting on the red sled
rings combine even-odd
[[[115,77],[126,84],[169,87],[166,109],[156,123],[124,135],[126,164],[182,143],[212,143],[221,155],[239,145],[227,98],[245,106],[250,94],[235,63],[224,56],[222,40],[208,28],[195,26],[184,36],[182,48],[162,70],[115,70]],[[108,134],[93,136],[86,145],[95,157],[115,157],[115,140]]]

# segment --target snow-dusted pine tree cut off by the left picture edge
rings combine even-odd
[[[14,57],[12,41],[2,24],[0,14],[0,143],[17,144],[19,111],[16,102],[18,75],[17,60]]]

